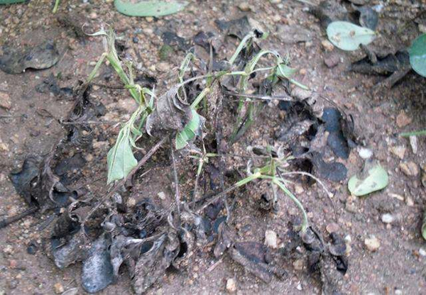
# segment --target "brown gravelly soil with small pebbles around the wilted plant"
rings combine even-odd
[[[168,60],[160,61],[159,50],[163,41],[158,31],[173,30],[182,38],[190,40],[200,30],[212,31],[223,40],[214,20],[231,20],[248,15],[261,21],[271,34],[263,41],[263,48],[287,53],[291,65],[298,70],[295,79],[315,89],[334,101],[346,113],[354,116],[357,132],[364,138],[366,147],[386,167],[390,182],[386,189],[364,197],[355,197],[347,190],[347,179],[343,182],[327,182],[333,193],[330,206],[327,196],[317,184],[299,182],[290,184],[297,191],[297,197],[308,211],[310,223],[323,235],[326,227],[337,224],[350,245],[349,269],[339,278],[339,288],[345,294],[425,294],[426,293],[426,245],[420,235],[422,213],[426,191],[420,181],[420,172],[407,175],[400,164],[414,162],[417,169],[426,165],[425,138],[417,138],[417,153],[413,153],[407,138],[398,133],[424,129],[426,126],[426,80],[409,72],[391,89],[382,89],[372,94],[381,76],[354,74],[347,71],[350,63],[362,57],[361,50],[343,52],[337,48],[328,51],[329,46],[324,30],[317,18],[306,13],[306,4],[297,1],[190,1],[185,11],[162,18],[130,18],[116,12],[112,1],[61,1],[58,16],[68,13],[75,21],[60,21],[51,13],[53,1],[29,1],[25,4],[0,7],[0,46],[35,46],[40,40],[55,40],[61,53],[60,61],[50,69],[27,69],[22,74],[6,74],[0,71],[0,91],[9,94],[11,107],[0,108],[0,218],[16,215],[28,208],[13,188],[9,173],[21,167],[28,154],[45,155],[62,138],[65,126],[60,123],[72,107],[72,96],[55,95],[49,90],[44,93],[36,87],[54,74],[60,87],[74,87],[78,80],[84,80],[102,54],[102,42],[96,37],[83,36],[79,29],[94,32],[101,26],[111,26],[119,40],[124,42],[124,54],[133,60],[140,72],[155,77],[158,93],[173,83],[173,74],[185,57],[183,50],[176,50]],[[101,3],[102,2],[102,3]],[[378,1],[371,1],[378,4]],[[248,4],[250,11],[246,10]],[[378,31],[382,38],[389,40],[395,48],[410,45],[418,34],[417,24],[408,22],[399,35],[405,21],[420,11],[420,3],[389,1],[381,13]],[[239,8],[240,6],[240,8]],[[423,9],[425,9],[423,7]],[[79,21],[80,18],[80,21]],[[312,33],[311,40],[300,43],[288,42],[290,35],[280,34],[285,25],[300,25]],[[424,24],[423,24],[424,26]],[[137,42],[136,42],[137,41]],[[226,40],[219,50],[223,57],[231,55],[235,40]],[[328,49],[327,49],[328,48]],[[324,60],[330,57],[338,60],[329,68]],[[170,70],[172,69],[172,70]],[[97,79],[104,80],[111,74],[102,66]],[[101,81],[99,83],[104,83]],[[111,79],[118,85],[119,79]],[[107,107],[107,113],[100,121],[119,123],[126,121],[134,109],[133,101],[124,90],[94,87],[92,99]],[[327,105],[326,102],[324,102]],[[275,131],[279,129],[285,113],[277,104],[271,103],[256,117],[253,127],[233,147],[232,152],[242,154],[249,146],[275,145]],[[226,126],[229,134],[232,126]],[[87,165],[82,169],[82,179],[77,185],[86,185],[90,191],[101,196],[107,190],[107,151],[114,144],[119,132],[117,124],[96,127],[92,150],[84,150]],[[150,140],[142,143],[144,150],[152,145]],[[398,157],[391,152],[393,147],[404,147],[405,153]],[[79,152],[79,151],[77,151]],[[70,151],[75,153],[75,151]],[[168,150],[155,156],[145,169],[146,176],[138,177],[141,196],[156,197],[160,191],[170,198],[173,196],[172,174]],[[327,159],[332,160],[332,159]],[[336,159],[334,159],[336,160]],[[363,160],[359,147],[351,150],[348,160],[339,159],[348,168],[348,175],[359,172]],[[179,160],[179,179],[183,179],[185,192],[187,184],[195,177],[195,165],[187,169],[188,162]],[[244,174],[246,162],[235,160],[234,167]],[[77,172],[76,172],[77,173]],[[297,179],[296,179],[297,180]],[[299,179],[300,180],[300,179]],[[231,184],[231,183],[229,183]],[[288,223],[298,216],[290,199],[280,198],[277,213],[265,213],[258,208],[262,187],[250,184],[246,189],[231,196],[234,208],[231,225],[241,241],[263,243],[265,231],[278,234],[278,244],[288,242]],[[390,213],[395,221],[383,223],[381,217]],[[43,250],[48,230],[39,230],[52,212],[35,213],[7,228],[0,229],[0,294],[55,294],[63,289],[78,288],[77,294],[85,294],[81,287],[81,265],[66,269],[55,267],[53,260]],[[374,235],[380,246],[368,250],[366,238]],[[28,253],[29,243],[37,245],[35,254]],[[307,269],[306,258],[292,257],[283,262],[287,274],[274,278],[269,284],[246,272],[241,265],[233,262],[228,255],[217,260],[212,254],[213,244],[195,252],[192,265],[184,272],[168,270],[148,294],[218,294],[226,292],[227,279],[235,279],[237,294],[320,294],[321,282],[317,275]],[[302,260],[300,262],[299,260]],[[303,267],[299,267],[300,263]],[[297,267],[295,267],[297,266]],[[301,269],[302,268],[302,269]],[[119,282],[108,286],[99,294],[129,294],[131,284],[123,269]]]

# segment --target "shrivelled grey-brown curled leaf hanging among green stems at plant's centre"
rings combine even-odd
[[[150,135],[163,130],[182,130],[191,119],[190,106],[178,99],[178,87],[173,87],[158,99],[153,113],[146,118],[146,132]]]

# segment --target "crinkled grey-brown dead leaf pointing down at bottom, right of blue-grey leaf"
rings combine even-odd
[[[173,235],[175,235],[174,238]],[[179,253],[179,243],[175,243],[175,233],[164,233],[153,242],[150,250],[139,257],[135,267],[135,276],[132,279],[133,290],[136,294],[143,294],[150,286],[157,282],[165,273]]]

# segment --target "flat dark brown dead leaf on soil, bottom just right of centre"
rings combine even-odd
[[[271,282],[273,274],[278,277],[285,275],[284,269],[268,264],[268,249],[265,245],[256,242],[235,243],[229,249],[232,260],[238,262],[263,282]]]

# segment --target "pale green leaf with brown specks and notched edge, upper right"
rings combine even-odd
[[[347,21],[334,21],[327,26],[327,36],[337,48],[357,50],[360,44],[371,43],[376,37],[376,33],[369,28],[356,26]]]

